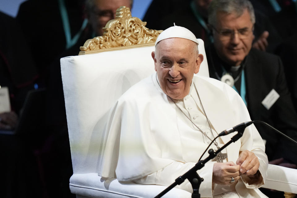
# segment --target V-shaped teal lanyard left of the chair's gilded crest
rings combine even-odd
[[[86,26],[88,24],[88,19],[84,19],[80,30],[74,35],[73,38],[71,38],[70,23],[69,23],[69,18],[68,18],[65,2],[64,2],[64,0],[58,0],[58,3],[59,3],[59,9],[60,9],[61,17],[62,17],[63,28],[64,28],[64,32],[65,32],[66,49],[69,49],[77,43],[78,39],[80,38],[81,33],[84,31],[84,28],[86,28]]]

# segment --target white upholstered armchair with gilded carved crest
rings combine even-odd
[[[160,31],[148,30],[144,27],[145,22],[131,18],[126,9],[118,9],[118,17],[106,25],[105,36],[88,40],[81,47],[80,54],[85,55],[61,58],[73,165],[70,190],[77,198],[154,197],[166,188],[132,182],[119,183],[115,178],[106,179],[97,175],[98,158],[105,144],[103,129],[110,108],[128,88],[154,72],[151,52]],[[121,32],[118,29],[113,31],[121,27],[118,25],[120,20],[128,20],[131,31],[123,26]],[[140,34],[145,38],[143,41],[140,41]],[[116,44],[109,40],[111,37],[117,38],[114,42]],[[120,40],[122,44],[119,44]],[[209,76],[204,44],[201,39],[198,41],[200,53],[204,54],[198,75]],[[138,45],[109,50],[110,46],[126,45],[127,42]],[[144,44],[145,42],[150,44]],[[97,50],[106,47],[106,50]],[[269,165],[268,174],[265,187],[297,193],[296,170]],[[191,193],[174,188],[163,197],[186,198],[191,197]]]

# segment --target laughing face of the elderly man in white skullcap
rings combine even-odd
[[[183,38],[168,38],[152,52],[162,91],[174,99],[182,99],[190,91],[194,73],[198,73],[203,55],[197,44]]]

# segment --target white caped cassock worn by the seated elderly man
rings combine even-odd
[[[194,76],[193,81],[214,136],[217,132],[250,121],[245,104],[233,88],[207,77]],[[190,93],[177,104],[213,139],[193,83]],[[217,138],[219,146],[222,147],[234,135],[231,133]],[[99,159],[100,176],[168,186],[197,163],[210,140],[196,130],[163,93],[153,74],[119,98],[110,112],[105,142],[104,154]],[[216,149],[214,145],[212,148]],[[236,163],[239,151],[244,150],[258,157],[262,177],[251,182],[247,176],[242,176],[234,184],[212,186],[213,164],[216,161],[209,161],[197,171],[204,178],[199,189],[201,197],[228,192],[235,193],[236,197],[266,197],[257,188],[264,184],[267,177],[268,160],[263,140],[253,124],[245,129],[240,140],[230,144],[222,153],[227,153],[225,161]],[[207,156],[205,154],[202,159]],[[188,181],[177,187],[192,192]]]

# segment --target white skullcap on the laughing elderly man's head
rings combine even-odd
[[[155,46],[158,42],[167,38],[185,38],[199,44],[195,35],[190,30],[181,26],[172,26],[161,32],[161,34],[157,37]]]

